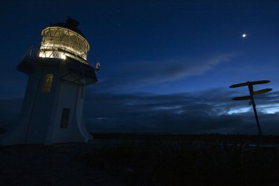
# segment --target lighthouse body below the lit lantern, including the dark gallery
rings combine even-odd
[[[83,121],[84,88],[97,82],[95,70],[74,59],[27,57],[17,67],[29,82],[22,111],[15,126],[0,139],[2,146],[59,144],[93,139]],[[91,74],[93,73],[93,74]],[[42,91],[52,74],[50,92]],[[67,116],[66,122],[65,115]]]

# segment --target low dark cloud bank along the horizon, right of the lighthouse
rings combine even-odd
[[[264,105],[262,100],[274,98],[276,94],[258,98],[258,105]],[[95,106],[85,109],[84,116],[91,132],[257,134],[255,117],[248,101],[237,102],[231,100],[232,97],[234,92],[222,88],[195,94],[95,93],[88,98],[86,108]],[[278,101],[278,98],[273,100]],[[243,107],[250,109],[229,114],[229,111]],[[259,109],[258,114],[263,132],[278,134],[278,113],[267,114]]]

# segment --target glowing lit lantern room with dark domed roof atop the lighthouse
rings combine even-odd
[[[82,63],[87,62],[89,43],[77,29],[79,22],[68,17],[66,23],[50,24],[42,31],[42,42],[38,56],[42,58],[66,59],[70,57]]]

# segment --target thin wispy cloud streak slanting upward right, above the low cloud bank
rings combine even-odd
[[[146,86],[173,82],[179,79],[203,75],[217,65],[231,61],[236,53],[218,54],[190,59],[180,56],[161,61],[135,61],[116,64],[107,71],[96,87],[105,89],[123,86]],[[110,71],[110,73],[107,73]],[[100,72],[102,74],[102,72]]]

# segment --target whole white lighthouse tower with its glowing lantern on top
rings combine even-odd
[[[97,82],[87,62],[89,43],[77,29],[79,22],[50,24],[42,31],[35,56],[26,56],[17,70],[29,77],[22,111],[1,145],[57,144],[92,139],[82,113],[84,89]]]

